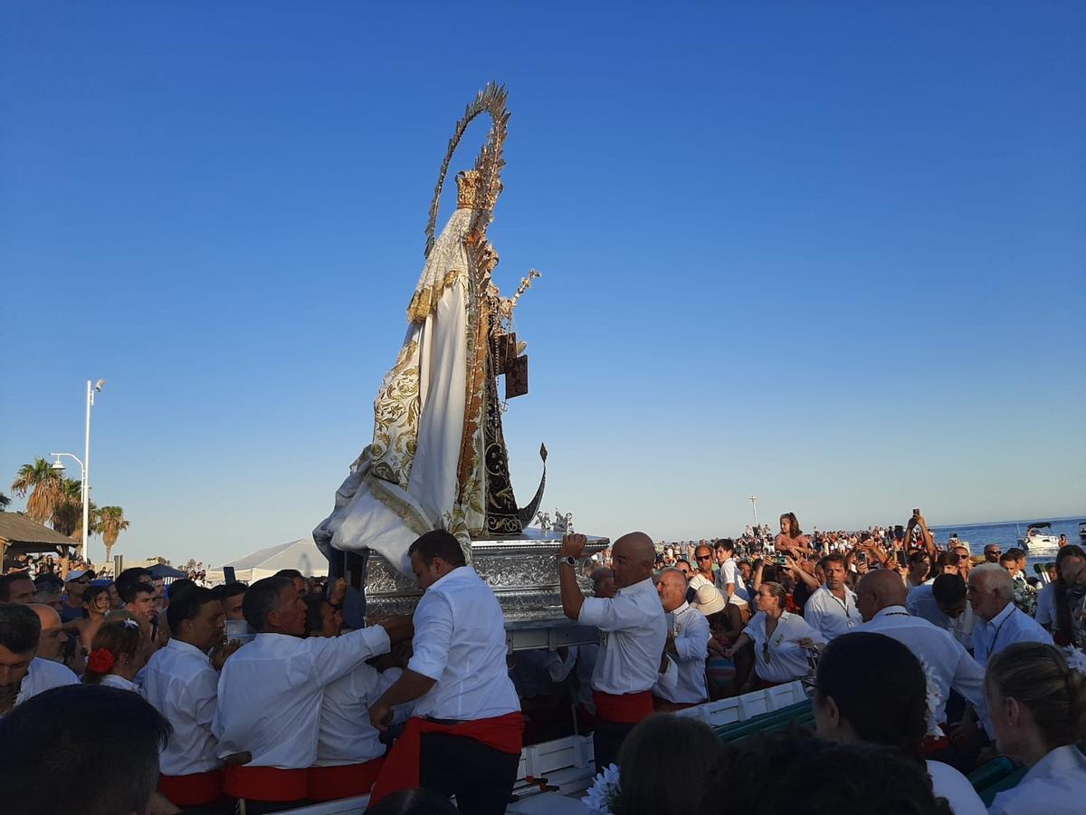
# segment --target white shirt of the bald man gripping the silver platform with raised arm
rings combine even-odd
[[[610,599],[585,598],[577,622],[599,629],[593,690],[615,695],[652,690],[668,637],[652,578],[621,588]]]

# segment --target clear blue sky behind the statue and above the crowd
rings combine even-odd
[[[752,493],[822,528],[1086,512],[1084,35],[1070,2],[7,3],[0,474],[81,450],[105,377],[118,551],[307,535],[494,78],[496,277],[544,275],[522,501],[545,441],[545,506],[613,537],[729,534]]]

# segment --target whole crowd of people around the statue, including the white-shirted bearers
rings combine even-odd
[[[919,511],[859,534],[808,536],[786,513],[773,537],[631,532],[593,560],[585,546],[566,536],[555,568],[563,612],[598,643],[513,656],[493,591],[440,530],[411,548],[414,615],[355,630],[343,581],[293,570],[214,589],[142,568],[5,574],[4,811],[243,802],[261,815],[369,793],[375,813],[441,812],[453,798],[503,813],[521,748],[574,728],[592,734],[598,770],[617,765],[607,807],[628,815],[984,812],[962,774],[997,752],[1028,770],[993,812],[1078,811],[1079,547],[1060,549],[1038,592],[1021,552],[990,546],[974,563],[936,544]],[[249,634],[228,638],[227,620]],[[673,715],[796,680],[813,737],[722,744]],[[96,765],[101,751],[111,760]],[[81,766],[94,766],[89,798]]]

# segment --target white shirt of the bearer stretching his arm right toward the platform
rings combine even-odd
[[[219,757],[249,751],[253,766],[312,766],[325,688],[388,650],[380,626],[308,639],[257,634],[230,655],[218,678],[212,732]]]

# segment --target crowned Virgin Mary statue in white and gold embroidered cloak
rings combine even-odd
[[[374,440],[352,464],[332,514],[314,530],[326,554],[370,549],[411,574],[407,548],[430,529],[455,535],[470,560],[472,538],[517,535],[535,515],[542,484],[523,510],[509,485],[496,387],[518,353],[504,330],[516,298],[503,299],[491,281],[498,259],[487,240],[502,190],[505,97],[504,88],[488,86],[450,141],[407,335],[374,401]],[[450,159],[467,124],[483,112],[491,115],[490,137],[475,170],[457,174],[456,212],[434,242]]]

